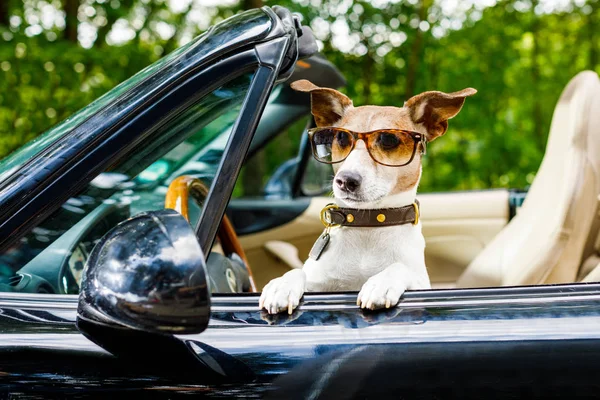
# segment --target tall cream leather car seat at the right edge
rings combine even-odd
[[[457,286],[575,282],[583,260],[595,252],[598,194],[600,80],[585,71],[558,101],[546,154],[523,206]]]

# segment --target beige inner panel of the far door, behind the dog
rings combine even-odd
[[[434,286],[452,286],[471,260],[507,224],[508,197],[507,190],[419,195],[427,246],[425,261]],[[265,244],[270,241],[293,244],[298,248],[300,260],[305,260],[323,231],[319,213],[332,201],[330,197],[313,197],[308,208],[294,220],[240,237],[259,289],[290,269]]]

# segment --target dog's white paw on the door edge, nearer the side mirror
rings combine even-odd
[[[302,273],[292,274],[293,272]],[[304,272],[294,270],[286,273],[281,278],[273,279],[265,286],[258,305],[260,309],[267,310],[269,314],[277,314],[287,310],[292,314],[294,309],[300,304],[300,299],[304,294]]]

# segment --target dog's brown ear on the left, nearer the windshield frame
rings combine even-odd
[[[322,88],[306,79],[293,82],[291,88],[310,93],[311,111],[317,126],[331,126],[342,119],[352,100],[330,88]]]

